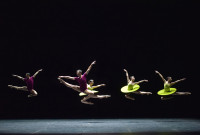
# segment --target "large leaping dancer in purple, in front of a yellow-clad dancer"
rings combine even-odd
[[[76,71],[76,74],[78,77],[71,77],[71,76],[59,76],[58,77],[58,80],[63,83],[65,86],[69,87],[69,88],[72,88],[73,90],[77,91],[77,92],[83,92],[85,94],[87,94],[88,96],[84,97],[81,102],[84,103],[84,104],[90,104],[90,105],[93,105],[92,102],[88,102],[87,100],[89,98],[108,98],[110,97],[110,95],[95,95],[95,93],[93,91],[90,91],[88,90],[87,88],[87,79],[86,79],[86,76],[88,75],[88,73],[90,72],[92,66],[96,63],[96,61],[92,62],[92,64],[88,67],[87,71],[82,74],[82,70],[77,70]],[[67,82],[65,82],[62,78],[65,78],[65,79],[70,79],[70,80],[75,80],[79,83],[79,86],[78,85],[72,85],[72,84],[69,84]]]

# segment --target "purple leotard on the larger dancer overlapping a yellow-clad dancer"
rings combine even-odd
[[[80,91],[84,92],[87,89],[87,74],[84,73],[81,78],[75,77],[75,80],[79,83]]]

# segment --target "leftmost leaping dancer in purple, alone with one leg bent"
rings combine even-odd
[[[34,90],[33,84],[34,84],[34,78],[41,71],[42,71],[42,69],[38,70],[33,76],[31,76],[30,73],[26,73],[26,77],[25,78],[23,78],[21,76],[18,76],[18,75],[12,75],[13,77],[17,77],[17,78],[23,80],[26,83],[26,86],[21,86],[20,87],[20,86],[8,85],[8,87],[11,88],[11,89],[16,89],[16,90],[29,91],[30,94],[28,95],[28,97],[37,96],[38,93],[37,93],[36,90]]]

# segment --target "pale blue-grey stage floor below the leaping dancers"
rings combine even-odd
[[[0,120],[0,134],[198,135],[199,119]]]

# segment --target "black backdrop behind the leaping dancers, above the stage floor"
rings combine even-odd
[[[195,1],[1,1],[0,118],[139,118],[199,117],[198,25]],[[78,93],[60,84],[59,75],[85,71],[100,94],[109,99],[80,102]],[[8,89],[42,68],[35,79],[38,97]],[[124,98],[126,68],[136,81],[148,79],[141,90],[151,96]],[[156,94],[164,77],[187,80],[175,87],[190,91],[161,101]],[[68,81],[77,84],[73,81]]]

